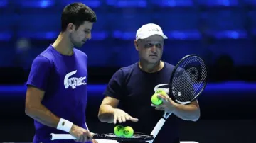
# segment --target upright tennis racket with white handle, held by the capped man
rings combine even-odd
[[[198,55],[186,55],[171,72],[169,97],[176,103],[186,105],[196,100],[206,87],[206,64]],[[164,112],[151,135],[156,137],[171,113]],[[152,143],[154,141],[147,141]]]

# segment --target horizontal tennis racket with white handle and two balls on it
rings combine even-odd
[[[144,133],[135,132],[132,137],[118,137],[113,133],[107,134],[96,134],[91,133],[93,135],[93,139],[110,139],[110,140],[117,140],[117,142],[124,142],[124,141],[131,141],[131,142],[146,142],[149,140],[154,139],[153,135],[146,135]],[[70,134],[50,134],[50,140],[58,140],[58,139],[76,139]]]

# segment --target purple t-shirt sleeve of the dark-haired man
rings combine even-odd
[[[50,67],[50,61],[46,57],[40,55],[36,57],[33,60],[26,86],[34,86],[46,91]]]

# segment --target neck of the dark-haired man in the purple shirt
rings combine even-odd
[[[68,40],[68,37],[64,33],[60,33],[58,38],[53,42],[53,47],[55,50],[60,52],[62,55],[73,55],[73,44],[71,44]]]

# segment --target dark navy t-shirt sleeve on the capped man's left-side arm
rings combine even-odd
[[[121,100],[124,94],[124,74],[121,69],[114,73],[103,94]]]

